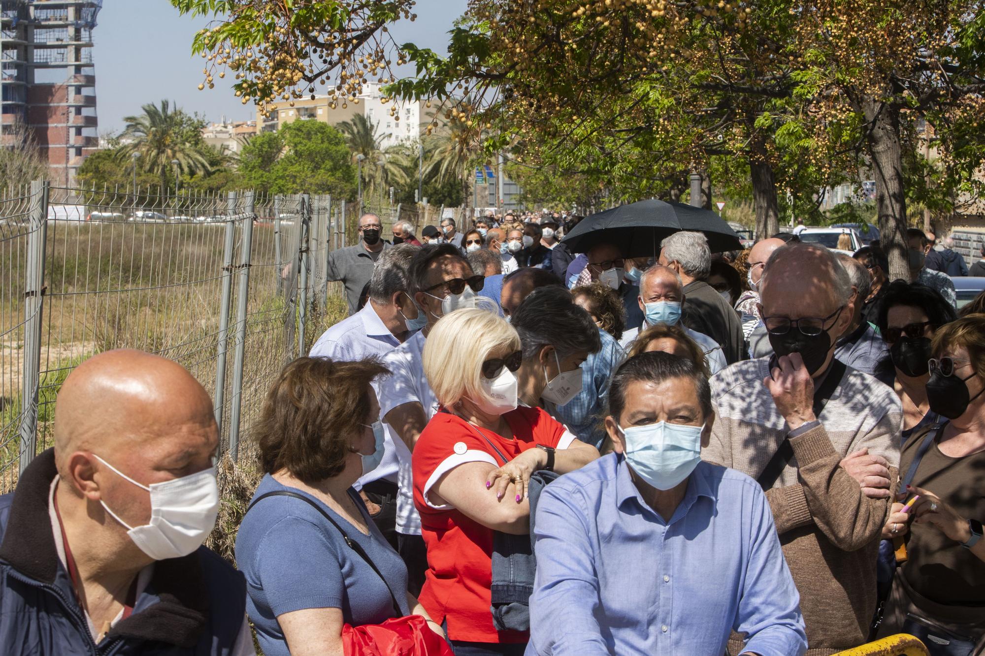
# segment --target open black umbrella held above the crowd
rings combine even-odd
[[[597,243],[611,243],[624,257],[655,257],[661,240],[681,230],[702,232],[713,253],[742,249],[739,235],[711,210],[658,200],[621,205],[586,217],[564,235],[561,243],[572,253],[587,252]]]

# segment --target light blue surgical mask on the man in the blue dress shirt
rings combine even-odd
[[[619,426],[625,439],[625,460],[647,485],[657,490],[676,488],[701,461],[704,426],[657,422]]]

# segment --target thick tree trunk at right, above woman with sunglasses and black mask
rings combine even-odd
[[[876,210],[879,213],[880,240],[889,258],[889,280],[909,280],[899,107],[876,98],[866,98],[862,108],[870,126],[866,145],[876,176]]]

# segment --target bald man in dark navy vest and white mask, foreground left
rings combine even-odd
[[[218,444],[179,364],[109,351],[76,367],[54,447],[0,496],[0,652],[253,654],[242,574],[201,546]]]

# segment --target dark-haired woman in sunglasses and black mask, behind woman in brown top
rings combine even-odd
[[[886,288],[879,329],[895,369],[892,387],[903,404],[903,442],[915,430],[940,421],[927,400],[930,341],[938,328],[956,318],[951,303],[929,287],[897,280]]]

